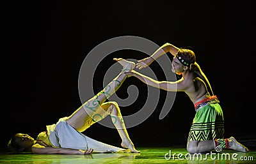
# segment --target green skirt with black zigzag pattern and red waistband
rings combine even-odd
[[[196,115],[189,131],[191,140],[212,140],[224,138],[224,117],[216,96],[211,96],[195,104]]]

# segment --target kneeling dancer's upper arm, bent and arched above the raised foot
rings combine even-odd
[[[165,43],[160,48],[156,50],[150,57],[146,57],[145,59],[141,59],[136,64],[136,68],[140,69],[149,66],[153,61],[155,61],[158,57],[163,56],[166,52],[170,52],[173,56],[175,56],[178,52],[179,48],[175,47],[170,43]]]

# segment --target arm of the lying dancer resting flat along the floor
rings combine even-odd
[[[93,149],[78,150],[58,147],[45,147],[43,145],[35,144],[31,147],[31,151],[35,154],[91,154]]]

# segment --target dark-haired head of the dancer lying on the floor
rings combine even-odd
[[[8,148],[15,152],[24,151],[25,149],[30,149],[34,141],[35,139],[27,134],[16,133],[8,142]]]

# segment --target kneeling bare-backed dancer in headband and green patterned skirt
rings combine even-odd
[[[207,77],[196,63],[196,56],[192,50],[177,48],[170,43],[164,44],[152,56],[141,59],[137,68],[149,66],[158,57],[170,52],[174,57],[172,71],[182,75],[176,82],[159,82],[136,71],[126,74],[139,78],[147,85],[158,87],[166,91],[184,92],[195,105],[196,115],[189,131],[187,149],[189,153],[210,151],[217,146],[246,152],[248,149],[237,142],[234,137],[224,137],[224,117],[219,100],[212,92]]]

